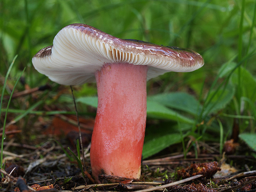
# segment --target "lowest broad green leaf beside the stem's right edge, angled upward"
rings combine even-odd
[[[181,142],[182,138],[179,133],[163,135],[146,142],[143,146],[143,159],[152,156],[170,145]]]

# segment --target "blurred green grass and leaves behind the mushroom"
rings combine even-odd
[[[5,97],[0,127],[15,120],[24,133],[21,139],[32,140],[38,117],[47,122],[58,111],[74,114],[69,87],[38,73],[31,58],[52,45],[64,26],[84,23],[119,38],[191,48],[204,57],[205,65],[197,71],[166,73],[148,82],[144,157],[176,143],[187,152],[196,140],[218,142],[221,152],[226,139],[240,135],[249,141],[256,137],[255,19],[255,0],[1,0],[0,91]],[[7,98],[19,75],[14,92],[45,84],[51,89],[13,98],[5,119]],[[74,89],[78,113],[94,117],[89,105],[95,106],[96,85]],[[43,112],[46,106],[52,113]],[[248,144],[255,149],[254,142]]]

